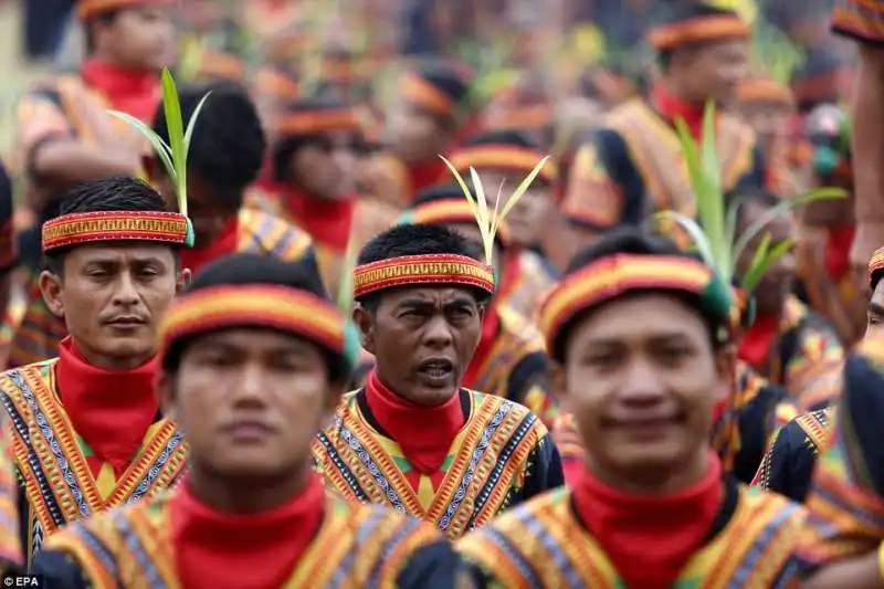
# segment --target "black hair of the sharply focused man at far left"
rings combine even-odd
[[[110,176],[77,185],[64,192],[57,214],[83,212],[162,212],[166,201],[150,185],[130,176]],[[171,246],[170,246],[171,248]],[[178,249],[172,248],[176,261]],[[64,276],[64,257],[71,248],[61,248],[45,254],[45,267],[56,276]]]

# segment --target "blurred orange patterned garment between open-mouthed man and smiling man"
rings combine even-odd
[[[558,416],[558,403],[547,382],[543,336],[509,308],[497,308],[497,315],[499,335],[478,369],[476,380],[465,383],[471,389],[527,407],[550,427]]]

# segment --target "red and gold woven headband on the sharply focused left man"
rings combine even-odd
[[[43,253],[104,241],[192,243],[190,222],[177,212],[108,211],[56,217],[43,223]]]

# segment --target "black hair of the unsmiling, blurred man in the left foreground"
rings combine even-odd
[[[254,253],[238,253],[212,261],[194,276],[182,296],[214,286],[251,284],[295,288],[330,303],[323,280],[314,264],[287,262],[273,255]],[[260,304],[260,301],[255,301],[255,305]],[[244,324],[248,324],[248,318]],[[185,350],[199,336],[200,334],[194,334],[172,343],[164,353],[162,369],[169,374],[177,372]],[[349,361],[343,355],[326,348],[323,348],[323,355],[332,380],[346,381],[352,369]]]

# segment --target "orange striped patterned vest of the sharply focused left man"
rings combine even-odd
[[[141,449],[118,478],[109,465],[91,464],[95,457],[73,431],[59,399],[55,361],[0,376],[0,400],[9,418],[21,488],[21,532],[29,555],[40,550],[44,536],[65,524],[172,485],[185,467],[183,433],[165,419],[147,431]]]

